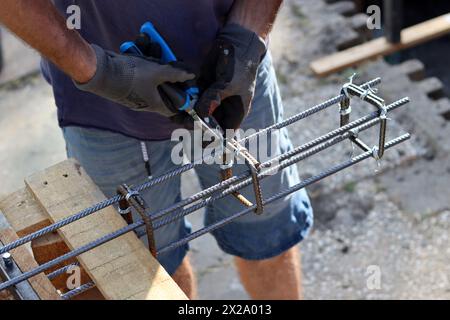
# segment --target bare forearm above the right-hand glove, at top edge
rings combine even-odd
[[[234,22],[266,39],[283,0],[236,0],[228,22]]]

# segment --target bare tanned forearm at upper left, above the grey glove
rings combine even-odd
[[[89,44],[66,27],[50,0],[2,0],[0,23],[78,82],[95,73]]]

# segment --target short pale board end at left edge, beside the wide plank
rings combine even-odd
[[[0,210],[19,237],[50,225],[48,215],[26,188],[1,199]]]

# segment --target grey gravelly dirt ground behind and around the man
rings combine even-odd
[[[409,131],[409,142],[388,151],[381,163],[369,160],[309,189],[316,219],[300,246],[305,297],[448,299],[450,126],[443,115],[450,112],[450,103],[438,94],[443,89],[438,79],[411,75],[411,66],[420,66],[417,61],[391,66],[377,60],[324,79],[314,77],[309,69],[313,59],[361,41],[358,21],[361,16],[343,12],[342,4],[287,0],[271,38],[286,117],[336,96],[353,72],[357,82],[382,77],[379,94],[388,102],[404,96],[412,101],[392,113],[388,132],[393,138]],[[9,35],[3,40],[8,46],[7,69],[0,76],[0,196],[65,158],[51,89],[36,73],[38,57]],[[363,104],[353,109],[354,119],[372,111]],[[330,108],[291,126],[294,145],[336,128],[338,119],[338,109]],[[374,136],[376,131],[370,131],[365,137]],[[299,168],[308,177],[351,154],[350,143],[343,143]],[[185,175],[184,194],[196,190],[196,178]],[[191,221],[194,229],[200,227],[201,212]],[[248,298],[232,257],[220,252],[211,236],[194,241],[191,255],[200,298]],[[380,274],[376,288],[370,285],[373,270]]]

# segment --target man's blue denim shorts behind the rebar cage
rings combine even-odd
[[[243,128],[261,129],[283,119],[283,106],[271,57],[268,54],[259,68],[252,111]],[[122,183],[138,185],[147,178],[140,141],[122,134],[82,127],[63,128],[67,154],[77,159],[107,197],[115,195]],[[171,161],[172,148],[178,142],[146,141],[154,176],[177,167]],[[271,150],[285,153],[293,148],[286,129],[270,139]],[[196,174],[202,188],[219,182],[217,165],[200,165]],[[245,165],[235,165],[234,173],[247,171]],[[289,167],[262,180],[265,198],[300,182],[296,166]],[[143,193],[151,212],[167,208],[181,200],[180,177],[170,179]],[[253,188],[241,192],[254,199]],[[228,196],[206,208],[204,223],[210,225],[244,209],[234,197]],[[301,190],[265,207],[264,214],[248,214],[213,232],[220,248],[231,255],[248,260],[275,257],[303,240],[313,222],[313,212],[305,190]],[[191,232],[188,221],[178,220],[156,230],[158,248],[184,238]],[[165,252],[158,257],[163,267],[173,274],[189,249],[188,245]]]

